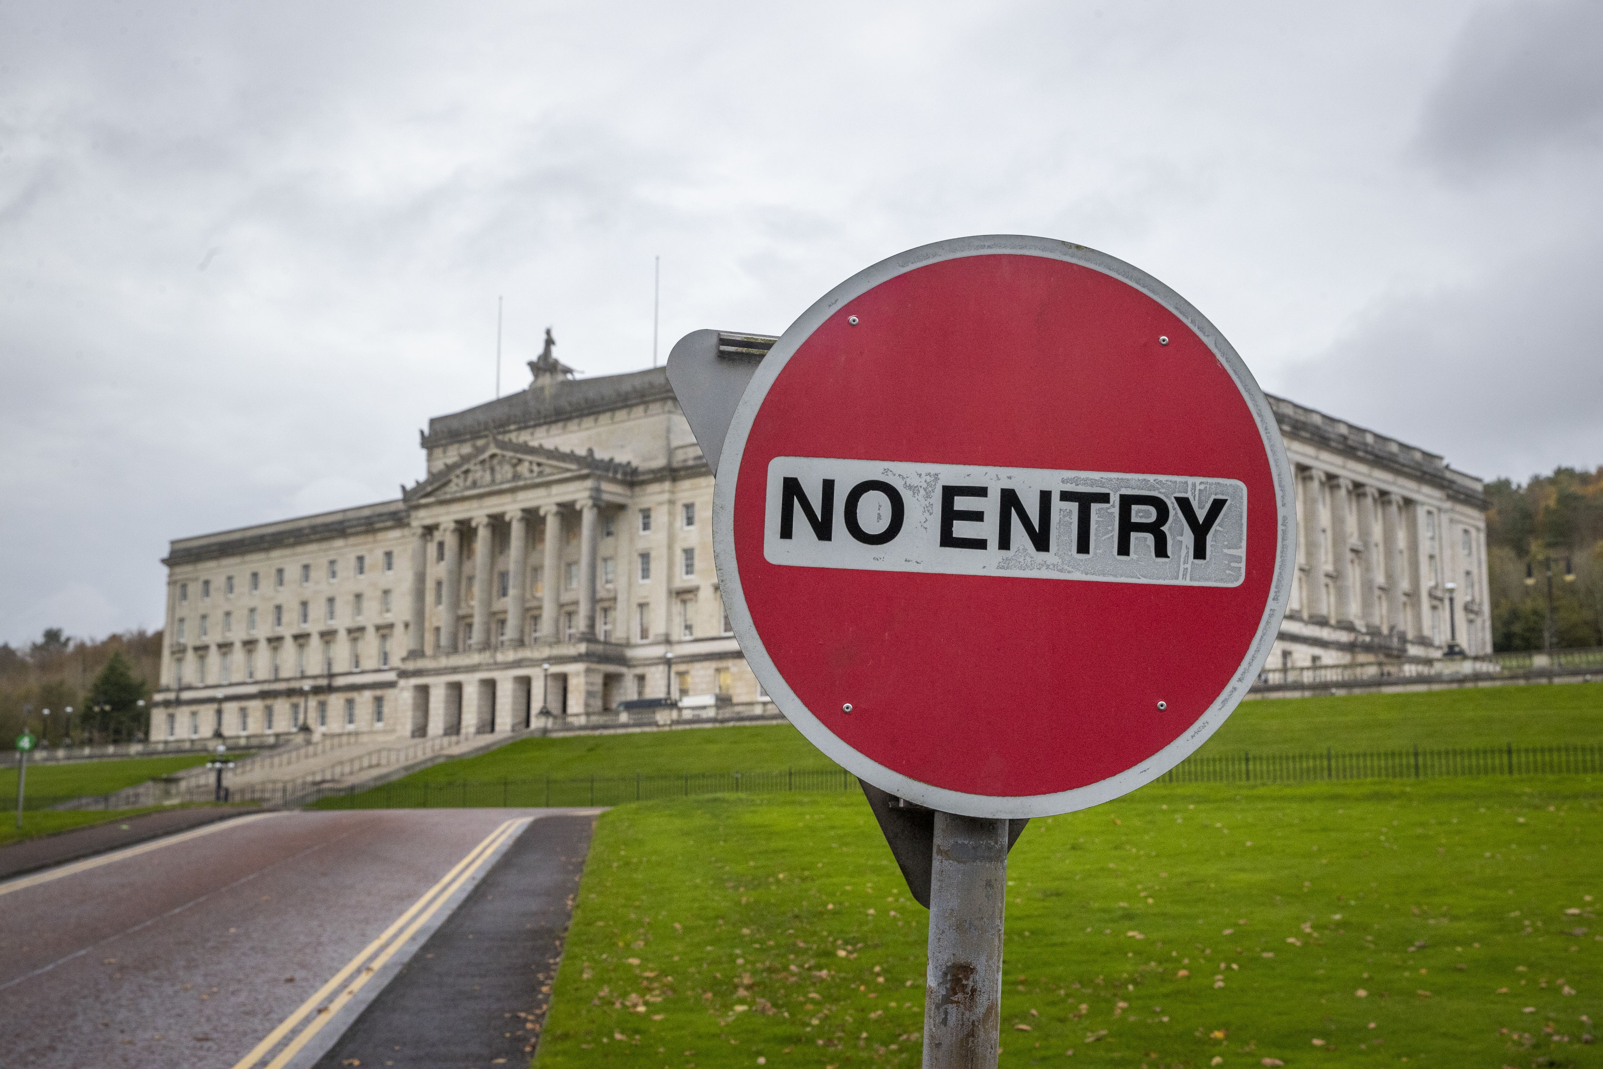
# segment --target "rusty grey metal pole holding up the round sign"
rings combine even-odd
[[[994,1069],[1008,822],[935,814],[923,1069]]]

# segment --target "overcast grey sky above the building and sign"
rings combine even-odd
[[[923,242],[1093,245],[1274,393],[1603,463],[1603,5],[0,0],[0,639]]]

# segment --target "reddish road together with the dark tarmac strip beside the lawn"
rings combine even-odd
[[[305,1069],[361,1047],[364,1066],[487,1069],[547,1002],[590,827],[261,814],[0,883],[0,1061]]]

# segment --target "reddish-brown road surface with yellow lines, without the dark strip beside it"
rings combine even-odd
[[[3,1061],[311,1064],[471,901],[531,819],[553,816],[263,814],[3,883]],[[590,821],[577,825],[582,846]],[[574,856],[572,830],[540,838]],[[527,859],[515,864],[529,870]],[[566,899],[571,885],[558,885]]]

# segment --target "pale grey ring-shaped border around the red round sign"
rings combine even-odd
[[[795,691],[792,691],[785,683],[779,668],[774,667],[773,657],[768,656],[768,649],[763,646],[763,639],[757,633],[757,627],[752,623],[752,614],[745,606],[745,591],[741,588],[741,574],[739,567],[736,567],[734,556],[734,490],[739,481],[741,458],[745,454],[745,439],[747,434],[750,434],[752,422],[757,418],[757,410],[768,396],[769,386],[773,386],[774,380],[779,378],[779,373],[785,369],[792,354],[802,348],[802,343],[806,341],[813,332],[818,330],[818,327],[822,325],[824,321],[829,319],[829,316],[832,316],[842,305],[861,296],[888,279],[894,279],[899,274],[925,264],[939,263],[943,260],[995,253],[1044,256],[1047,260],[1061,260],[1064,263],[1074,263],[1082,268],[1100,271],[1146,293],[1189,325],[1197,338],[1201,338],[1202,343],[1220,359],[1225,369],[1230,370],[1231,378],[1236,380],[1236,388],[1241,389],[1247,407],[1252,410],[1252,418],[1258,423],[1258,433],[1263,436],[1263,449],[1268,455],[1270,471],[1274,479],[1274,503],[1279,514],[1274,577],[1270,583],[1268,604],[1263,607],[1263,619],[1258,622],[1258,633],[1254,636],[1252,644],[1247,647],[1247,656],[1242,657],[1241,667],[1231,676],[1225,691],[1178,739],[1170,742],[1146,761],[1095,784],[1050,795],[1003,797],[971,795],[959,790],[947,790],[944,787],[935,787],[931,784],[902,776],[901,773],[885,768],[878,761],[872,761],[846,745],[838,736],[835,736],[835,732],[829,731],[811,713],[811,710],[806,708],[806,705],[802,704],[802,699],[798,699]],[[729,612],[729,622],[734,625],[734,635],[741,641],[741,651],[745,654],[747,664],[752,665],[752,672],[757,673],[758,681],[761,681],[768,696],[779,707],[779,712],[782,712],[813,745],[827,753],[842,768],[861,779],[866,779],[882,790],[888,790],[893,795],[928,806],[930,809],[941,809],[944,813],[957,813],[975,817],[1016,819],[1052,816],[1056,813],[1072,813],[1074,809],[1101,805],[1103,801],[1117,798],[1119,795],[1129,793],[1137,787],[1157,779],[1188,758],[1199,745],[1207,742],[1209,736],[1218,731],[1220,724],[1225,723],[1225,718],[1230,716],[1236,705],[1241,704],[1241,699],[1246,697],[1247,689],[1252,686],[1254,680],[1257,680],[1258,673],[1263,670],[1263,664],[1270,657],[1270,647],[1274,644],[1274,638],[1281,630],[1281,619],[1286,615],[1286,603],[1290,599],[1297,545],[1297,508],[1292,489],[1292,466],[1290,460],[1286,457],[1286,442],[1281,441],[1281,431],[1274,422],[1274,413],[1270,412],[1270,402],[1265,399],[1263,391],[1258,389],[1257,380],[1252,377],[1252,372],[1247,370],[1247,365],[1242,364],[1236,349],[1225,340],[1225,335],[1221,335],[1218,329],[1185,298],[1145,271],[1140,271],[1106,253],[1100,253],[1095,248],[1087,248],[1085,245],[1074,245],[1047,237],[1024,237],[1013,234],[955,237],[952,240],[911,248],[851,276],[819,298],[793,324],[790,324],[790,329],[785,330],[779,341],[774,343],[774,348],[769,349],[768,356],[763,357],[763,362],[757,367],[757,373],[745,388],[745,394],[741,397],[739,407],[734,410],[734,420],[729,423],[729,433],[723,441],[723,454],[718,466],[729,474],[717,481],[713,495],[713,561],[718,569],[718,583],[723,593],[725,609]]]

